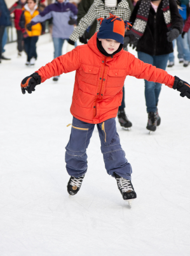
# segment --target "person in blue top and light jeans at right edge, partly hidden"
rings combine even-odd
[[[189,0],[179,0],[177,1],[179,3],[179,14],[181,15],[184,22],[187,20],[187,5],[189,4]],[[180,34],[178,38],[176,38],[177,42],[177,51],[178,51],[178,58],[179,63],[184,63],[184,68],[186,68],[190,63],[190,50],[189,50],[189,44],[187,40],[187,34],[184,34],[184,37],[182,38],[182,35]],[[173,41],[173,48],[175,47],[175,42]],[[174,66],[174,54],[173,52],[170,53],[169,56],[169,63],[168,68],[172,68]]]

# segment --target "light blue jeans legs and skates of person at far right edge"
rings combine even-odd
[[[190,62],[190,50],[189,50],[189,44],[188,44],[188,38],[187,34],[184,34],[184,38],[182,38],[181,34],[176,38],[177,42],[177,51],[178,55],[177,57],[179,58],[179,62],[183,63],[184,62],[184,67],[186,68],[189,65]],[[173,41],[173,48],[175,47],[175,43]],[[169,64],[168,68],[172,68],[174,65],[174,54],[171,52],[169,54]]]

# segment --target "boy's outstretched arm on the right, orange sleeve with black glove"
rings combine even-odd
[[[146,79],[151,82],[158,82],[160,84],[165,84],[166,86],[177,89],[180,91],[180,96],[190,99],[190,85],[184,80],[179,79],[179,77],[173,77],[169,75],[165,70],[156,68],[151,64],[144,63],[140,59],[129,56],[130,64],[128,66],[128,75],[136,77],[137,79]]]

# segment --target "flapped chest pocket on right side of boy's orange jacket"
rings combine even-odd
[[[109,70],[107,74],[107,87],[123,86],[126,79],[126,70]]]

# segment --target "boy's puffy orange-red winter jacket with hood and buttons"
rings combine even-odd
[[[116,117],[121,105],[126,75],[172,87],[174,77],[164,70],[146,64],[133,54],[121,50],[105,57],[97,48],[97,33],[87,45],[80,45],[53,59],[37,73],[41,82],[50,77],[76,70],[71,114],[86,123],[102,123]]]

